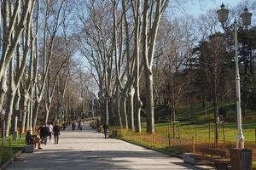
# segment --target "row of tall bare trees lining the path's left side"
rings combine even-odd
[[[75,53],[70,14],[66,0],[1,2],[0,110],[6,136],[17,133],[19,122],[23,133],[38,120],[54,122],[71,110],[63,106]]]

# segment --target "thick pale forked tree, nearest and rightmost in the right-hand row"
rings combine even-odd
[[[142,27],[142,55],[146,84],[146,112],[147,132],[154,133],[154,89],[153,89],[153,59],[154,44],[160,24],[160,18],[166,9],[168,0],[148,1],[143,4],[143,27]]]

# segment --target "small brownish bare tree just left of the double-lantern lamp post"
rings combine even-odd
[[[227,42],[221,35],[212,35],[209,41],[201,42],[200,45],[200,74],[205,75],[205,82],[209,85],[212,105],[214,107],[214,119],[215,119],[215,143],[218,143],[218,105],[220,98],[220,87],[224,87],[224,82],[228,80],[226,75],[226,80],[224,81],[223,76],[229,74],[229,63],[230,55],[226,51]],[[224,74],[225,73],[225,74]]]

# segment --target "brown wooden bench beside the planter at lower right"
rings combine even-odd
[[[224,150],[211,150],[203,148],[200,150],[201,154],[193,154],[191,156],[195,157],[201,161],[209,161],[215,164],[218,170],[229,169],[230,160],[226,159],[226,151]]]

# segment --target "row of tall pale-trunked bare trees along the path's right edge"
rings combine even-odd
[[[147,131],[154,133],[154,48],[167,4],[167,0],[89,1],[78,8],[83,26],[79,51],[90,71],[96,71],[92,75],[105,107],[102,116],[109,124],[141,131],[140,80],[144,77]]]

